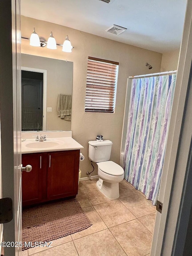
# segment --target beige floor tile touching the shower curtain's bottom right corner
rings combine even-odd
[[[137,218],[156,212],[156,207],[141,194],[119,199]]]

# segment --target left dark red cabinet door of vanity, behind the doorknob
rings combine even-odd
[[[46,155],[45,155],[46,156]],[[45,157],[44,157],[45,158]],[[22,205],[31,205],[39,203],[43,198],[44,171],[43,154],[24,154],[22,155],[22,165],[30,164],[32,166],[31,172],[22,172]],[[46,161],[44,161],[46,163]],[[45,174],[46,175],[46,174]],[[44,177],[46,182],[46,177]]]

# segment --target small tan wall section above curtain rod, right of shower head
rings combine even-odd
[[[179,51],[180,49],[176,49],[168,53],[163,53],[161,61],[161,72],[177,70]]]

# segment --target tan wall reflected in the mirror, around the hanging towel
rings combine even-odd
[[[45,69],[47,71],[46,131],[70,131],[71,122],[57,116],[58,94],[72,94],[73,62],[21,54],[21,66]]]

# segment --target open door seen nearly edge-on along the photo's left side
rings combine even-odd
[[[4,255],[15,256],[21,255],[22,241],[20,0],[1,0],[0,10],[2,197],[13,200],[13,219],[3,224],[3,237],[5,242],[16,242],[7,243],[10,247],[4,247]]]

